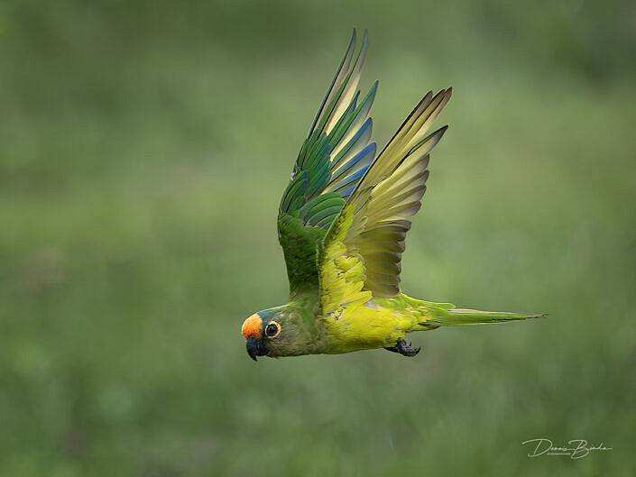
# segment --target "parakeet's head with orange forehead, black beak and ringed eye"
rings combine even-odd
[[[301,321],[300,316],[285,307],[270,308],[249,316],[241,328],[247,354],[256,361],[257,356],[313,353],[313,334],[301,325]]]

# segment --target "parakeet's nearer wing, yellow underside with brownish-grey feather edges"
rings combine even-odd
[[[424,96],[328,230],[318,256],[323,316],[337,317],[345,307],[400,294],[408,218],[421,206],[429,151],[447,126],[427,133],[450,96],[451,88]]]

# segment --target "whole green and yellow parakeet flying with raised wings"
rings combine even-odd
[[[545,315],[477,311],[401,293],[401,253],[429,177],[429,152],[446,132],[429,129],[451,88],[422,98],[375,154],[368,117],[377,81],[360,96],[368,34],[356,32],[318,108],[281,199],[278,237],[289,302],[244,320],[247,353],[298,356],[384,348],[415,356],[407,333]]]

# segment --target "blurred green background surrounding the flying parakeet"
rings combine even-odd
[[[550,316],[254,363],[354,25],[381,145],[454,87],[402,288]],[[621,1],[0,2],[0,475],[636,474],[634,45]]]

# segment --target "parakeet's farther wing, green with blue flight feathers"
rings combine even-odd
[[[367,116],[377,82],[360,99],[357,87],[367,49],[367,32],[357,55],[355,37],[354,30],[281,199],[278,234],[287,264],[290,295],[305,290],[318,292],[318,243],[375,157],[372,120]]]

